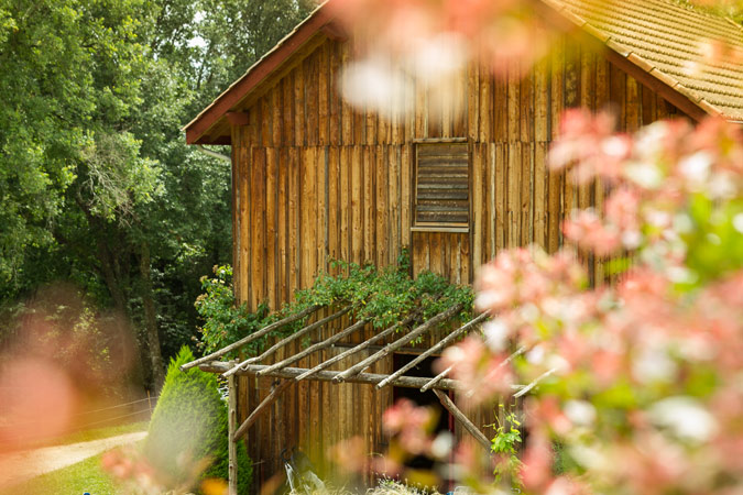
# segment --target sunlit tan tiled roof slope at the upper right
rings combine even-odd
[[[551,0],[610,48],[707,111],[743,121],[743,30],[670,0]],[[730,47],[709,61],[704,46]],[[734,55],[736,53],[736,55]]]

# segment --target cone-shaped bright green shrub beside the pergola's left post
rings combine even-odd
[[[201,474],[203,479],[228,477],[227,405],[215,375],[199,370],[178,370],[193,360],[190,350],[184,346],[171,361],[144,448],[150,462],[159,471],[167,473],[174,486],[193,477],[193,470],[198,470],[204,460],[208,460],[209,464]],[[240,493],[247,493],[251,477],[250,459],[244,443],[240,442]]]

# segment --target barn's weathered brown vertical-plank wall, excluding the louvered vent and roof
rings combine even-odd
[[[351,108],[337,91],[351,43],[318,34],[308,46],[247,103],[248,125],[232,127],[236,292],[251,308],[280,307],[312,285],[329,257],[387,265],[411,246],[415,273],[431,270],[469,284],[499,250],[536,243],[555,251],[570,210],[601,207],[605,194],[600,184],[577,187],[548,174],[560,112],[611,107],[624,130],[680,113],[600,54],[562,40],[523,79],[516,67],[503,80],[471,66],[450,82],[456,98],[418,90],[408,98],[413,112],[387,120]],[[469,143],[469,232],[414,231],[414,142],[448,138]],[[584,263],[593,279],[603,279],[601,260]],[[298,343],[276,359],[296,350]],[[374,372],[391,366],[382,361]],[[243,417],[270,385],[243,378]],[[281,470],[281,451],[295,444],[320,462],[328,447],[356,435],[380,451],[390,400],[389,392],[364,385],[298,384],[249,432],[256,484]],[[473,415],[480,426],[493,422],[492,411]]]

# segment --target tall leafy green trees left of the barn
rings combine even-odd
[[[231,261],[229,164],[181,128],[309,9],[0,0],[2,321],[72,282],[118,315],[162,382],[162,355],[196,333],[199,277]]]

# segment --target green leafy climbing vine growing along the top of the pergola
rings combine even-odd
[[[414,312],[418,321],[424,321],[460,302],[463,309],[454,321],[466,321],[472,314],[473,294],[469,286],[450,284],[431,272],[411,277],[406,250],[396,266],[378,268],[371,264],[358,265],[332,260],[330,268],[337,274],[321,273],[310,288],[296,292],[293,302],[270,314],[265,302],[259,305],[255,312],[248,311],[244,305],[238,305],[232,292],[232,268],[215,266],[215,278],[201,278],[204,293],[195,304],[205,322],[200,329],[204,352],[212,352],[315,305],[350,305],[357,321],[370,320],[376,329],[387,328]],[[299,320],[277,329],[274,334],[288,334],[302,328],[305,321]],[[260,352],[267,337],[251,342],[241,352]]]

